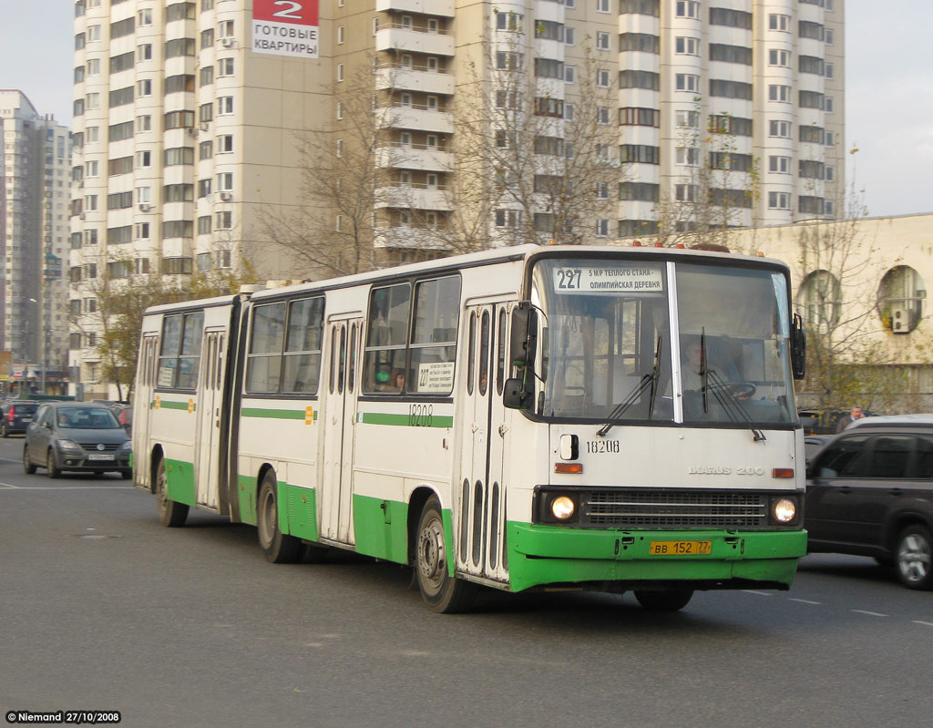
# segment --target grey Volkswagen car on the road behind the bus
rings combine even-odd
[[[27,473],[36,468],[58,478],[63,470],[104,473],[116,470],[132,477],[132,441],[120,427],[113,411],[89,402],[46,402],[26,430],[22,465]]]

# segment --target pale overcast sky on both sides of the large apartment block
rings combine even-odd
[[[836,0],[842,5],[842,0]],[[933,213],[933,0],[844,0],[849,181],[870,216]],[[0,89],[71,123],[74,0],[0,0]],[[853,173],[855,176],[853,177]]]

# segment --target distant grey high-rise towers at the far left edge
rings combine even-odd
[[[0,90],[0,350],[10,390],[58,391],[67,361],[71,133],[21,91]]]

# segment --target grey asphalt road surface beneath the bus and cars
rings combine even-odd
[[[790,592],[489,592],[422,605],[344,554],[272,566],[255,529],[160,526],[118,475],[23,474],[0,441],[0,709],[127,726],[905,726],[931,720],[933,593],[809,556]],[[0,723],[2,724],[2,723]]]

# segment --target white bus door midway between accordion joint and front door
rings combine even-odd
[[[321,536],[353,543],[353,455],[356,412],[356,359],[362,318],[327,319],[326,378],[322,382],[324,405],[324,457],[317,503]]]

